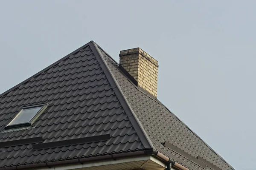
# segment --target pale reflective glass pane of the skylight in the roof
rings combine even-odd
[[[42,112],[44,106],[34,105],[22,108],[8,126],[32,124],[35,121],[35,117],[38,117],[38,113]]]

